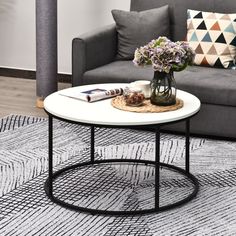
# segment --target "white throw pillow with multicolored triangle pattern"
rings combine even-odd
[[[236,14],[188,10],[187,41],[196,65],[235,68]]]

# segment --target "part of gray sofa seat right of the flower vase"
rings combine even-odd
[[[236,70],[191,66],[175,73],[178,88],[202,103],[236,106]]]

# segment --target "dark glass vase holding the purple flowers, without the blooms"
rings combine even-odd
[[[150,101],[157,106],[176,104],[176,82],[173,71],[169,73],[154,72],[154,77],[151,81]]]

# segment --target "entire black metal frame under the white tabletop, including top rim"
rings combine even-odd
[[[46,110],[45,110],[46,111]],[[139,214],[148,214],[148,213],[154,213],[154,212],[160,212],[168,209],[172,209],[174,207],[180,206],[182,204],[185,204],[189,202],[191,199],[193,199],[199,190],[199,183],[197,178],[192,175],[189,171],[190,163],[189,163],[189,144],[190,144],[190,119],[191,117],[181,119],[174,122],[168,122],[164,124],[157,124],[157,125],[142,125],[142,126],[112,126],[112,125],[94,125],[89,123],[81,123],[81,122],[75,122],[71,120],[67,120],[55,115],[52,115],[48,111],[46,111],[48,114],[48,178],[45,182],[45,192],[47,196],[51,199],[52,202],[61,205],[65,208],[81,211],[81,212],[87,212],[91,214],[103,214],[103,215],[139,215]],[[195,115],[195,114],[194,114]],[[82,162],[75,165],[67,166],[61,170],[56,171],[53,173],[53,118],[69,122],[72,124],[80,124],[84,126],[90,126],[91,127],[91,149],[90,149],[90,155],[91,159],[88,162]],[[162,163],[160,162],[160,127],[163,125],[171,124],[171,123],[177,123],[180,121],[185,121],[185,169],[182,169],[180,167]],[[103,128],[145,128],[148,126],[155,127],[155,161],[149,161],[149,160],[136,160],[136,159],[105,159],[105,160],[95,160],[94,158],[94,133],[95,133],[95,127],[103,127]],[[60,200],[59,198],[55,197],[53,195],[53,181],[59,177],[62,173],[69,171],[74,168],[78,167],[84,167],[84,166],[91,166],[91,165],[99,165],[103,163],[138,163],[138,164],[145,164],[145,165],[153,165],[155,167],[155,203],[154,208],[150,209],[143,209],[143,210],[132,210],[132,211],[113,211],[113,210],[102,210],[102,209],[93,209],[93,208],[86,208],[82,206],[73,205],[70,203],[67,203],[65,201]],[[160,206],[160,167],[166,167],[168,169],[172,169],[176,172],[179,172],[180,174],[186,176],[193,184],[193,191],[182,200],[179,200],[177,202]]]

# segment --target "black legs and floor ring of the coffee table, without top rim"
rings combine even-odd
[[[102,159],[102,160],[95,160],[95,125],[90,125],[91,130],[90,130],[90,134],[91,134],[91,147],[90,147],[90,154],[91,154],[91,159],[90,161],[86,161],[86,162],[81,162],[81,163],[76,163],[73,165],[69,165],[69,166],[65,166],[64,168],[57,170],[55,172],[53,172],[53,119],[54,118],[58,118],[55,117],[54,115],[49,113],[49,122],[48,122],[48,127],[49,127],[49,132],[48,132],[48,147],[49,147],[49,177],[45,182],[45,192],[47,194],[47,196],[56,204],[61,205],[63,207],[66,207],[68,209],[72,209],[72,210],[76,210],[76,211],[81,211],[81,212],[87,212],[87,213],[91,213],[91,214],[104,214],[104,215],[139,215],[139,214],[148,214],[148,213],[154,213],[154,212],[161,212],[161,211],[165,211],[168,209],[172,209],[175,208],[177,206],[183,205],[187,202],[189,202],[191,199],[193,199],[199,189],[199,184],[198,184],[198,180],[196,179],[196,177],[194,177],[192,174],[189,173],[189,159],[190,159],[190,154],[189,154],[189,139],[190,139],[190,121],[189,119],[186,120],[186,167],[184,168],[180,168],[177,167],[173,164],[167,164],[167,163],[163,163],[160,161],[160,127],[161,125],[157,125],[155,128],[155,160],[151,161],[151,160],[142,160],[142,159]],[[63,120],[64,121],[64,120]],[[65,120],[67,122],[71,122],[68,120]],[[72,123],[72,122],[71,122]],[[121,127],[120,127],[121,128]],[[122,127],[123,128],[123,127]],[[125,127],[126,128],[126,127]],[[117,163],[123,163],[123,164],[140,164],[140,165],[150,165],[153,166],[155,169],[155,200],[154,200],[154,207],[153,208],[148,208],[148,209],[140,209],[140,210],[126,210],[126,211],[119,211],[119,210],[108,210],[108,209],[98,209],[98,208],[88,208],[85,206],[78,206],[78,205],[74,205],[71,204],[65,200],[60,199],[60,196],[53,196],[53,181],[55,181],[59,176],[61,176],[63,173],[68,173],[68,171],[71,171],[73,169],[77,169],[77,168],[84,168],[84,167],[92,167],[94,165],[103,165],[103,164],[117,164]],[[185,196],[184,198],[178,200],[178,201],[174,201],[173,203],[170,204],[166,204],[164,205],[164,202],[162,204],[162,206],[160,206],[160,179],[161,179],[161,175],[160,175],[160,170],[162,168],[167,168],[170,169],[171,171],[175,171],[178,172],[179,174],[185,176],[186,178],[188,178],[192,184],[193,184],[193,189],[192,191]]]

